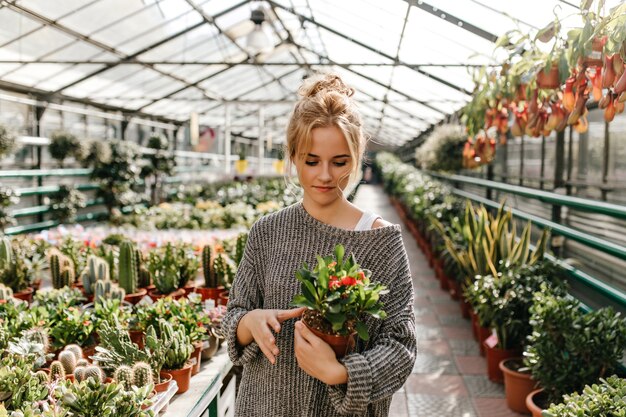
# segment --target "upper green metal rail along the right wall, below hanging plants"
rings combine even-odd
[[[550,191],[520,187],[518,185],[505,184],[496,181],[484,180],[481,178],[473,178],[465,175],[445,175],[431,171],[424,171],[424,173],[431,177],[444,179],[451,182],[478,185],[480,187],[503,191],[509,194],[519,195],[521,197],[532,198],[534,200],[539,200],[558,206],[566,206],[576,210],[605,214],[607,216],[615,217],[618,219],[626,219],[626,207],[618,204],[592,201],[586,198],[571,197],[553,193]]]

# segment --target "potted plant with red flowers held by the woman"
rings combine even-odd
[[[343,245],[337,245],[334,252],[334,258],[318,255],[312,270],[304,263],[296,272],[302,294],[294,297],[292,305],[307,308],[304,324],[342,357],[354,347],[355,335],[369,339],[365,314],[381,320],[386,317],[380,296],[389,291],[370,282],[371,271],[362,269],[353,254],[344,259]]]

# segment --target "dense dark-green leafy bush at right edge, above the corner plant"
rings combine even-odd
[[[614,372],[626,347],[626,322],[619,313],[610,307],[584,313],[577,300],[543,288],[530,311],[533,331],[524,363],[543,387],[545,401],[537,403],[531,393],[527,404],[547,408]]]

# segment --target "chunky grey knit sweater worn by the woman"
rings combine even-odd
[[[293,353],[294,322],[283,323],[276,336],[280,355],[272,365],[256,343],[237,344],[239,320],[251,310],[288,309],[300,293],[295,271],[302,262],[315,265],[315,255],[331,255],[336,244],[354,253],[372,271],[372,281],[389,289],[381,296],[385,320],[367,318],[368,342],[341,360],[348,383],[329,386],[298,367]],[[230,291],[222,322],[228,353],[243,366],[236,399],[241,417],[387,416],[391,397],[409,377],[417,343],[413,286],[400,226],[351,231],[322,223],[296,203],[257,221]]]

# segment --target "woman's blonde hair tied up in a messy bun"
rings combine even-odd
[[[320,74],[305,80],[298,95],[289,125],[287,127],[286,155],[288,163],[303,158],[311,148],[312,131],[318,127],[337,127],[348,142],[352,170],[350,182],[355,181],[366,140],[363,134],[361,116],[352,100],[354,89],[348,87],[336,74]]]

